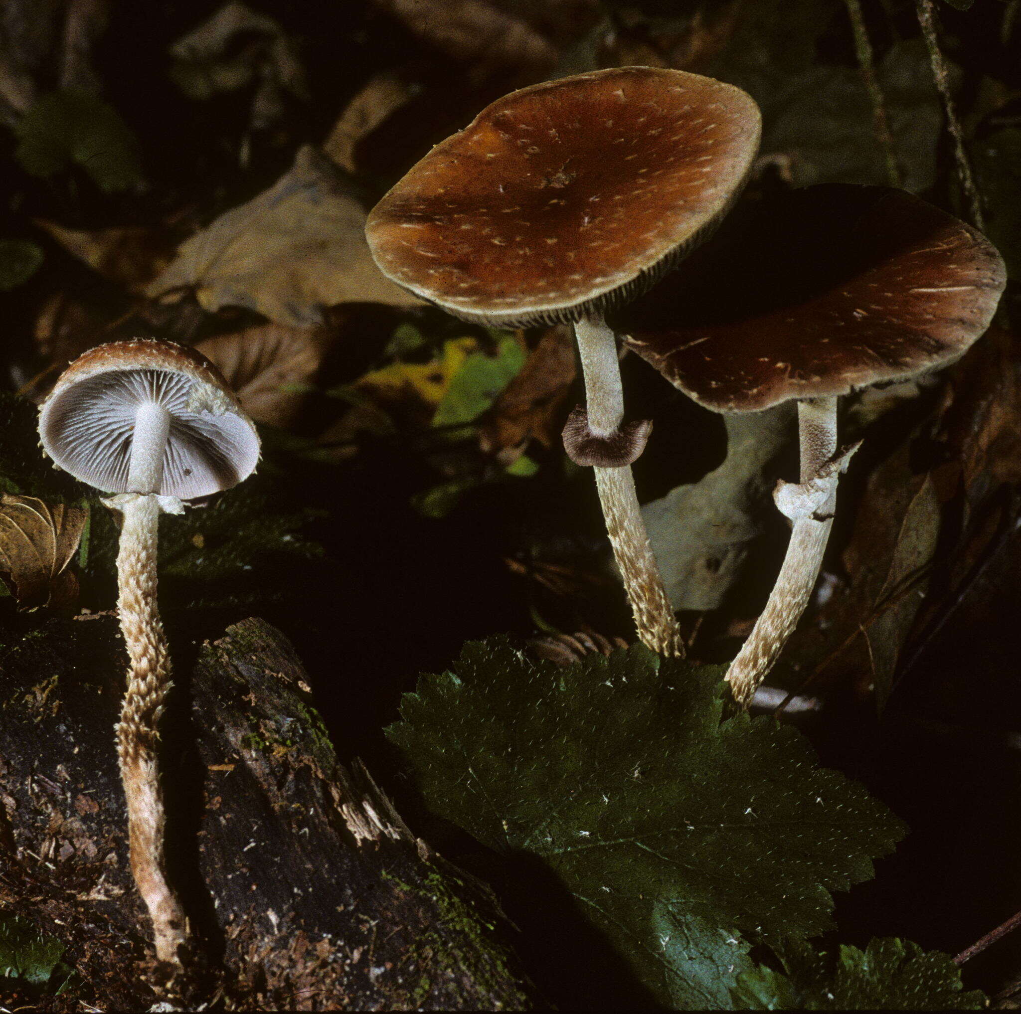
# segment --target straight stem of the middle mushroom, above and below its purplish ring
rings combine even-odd
[[[585,378],[585,407],[590,432],[612,436],[624,420],[624,385],[617,339],[602,315],[575,324]],[[643,441],[644,442],[644,441]],[[667,597],[660,569],[648,544],[630,464],[595,466],[595,485],[641,642],[661,655],[684,655],[680,628]]]

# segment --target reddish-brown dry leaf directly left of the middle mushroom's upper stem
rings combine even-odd
[[[564,425],[560,411],[576,369],[571,328],[549,328],[518,376],[479,421],[482,449],[510,465],[524,453],[530,439],[546,447],[557,445]]]

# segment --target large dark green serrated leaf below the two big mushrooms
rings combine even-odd
[[[871,877],[904,833],[796,730],[724,721],[722,675],[640,646],[560,668],[471,643],[388,735],[433,810],[545,862],[669,999],[665,912],[701,940],[692,962],[715,953],[706,926],[811,936],[832,924],[830,891]]]

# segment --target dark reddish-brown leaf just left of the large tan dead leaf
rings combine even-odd
[[[103,278],[134,292],[144,292],[174,256],[174,244],[152,229],[65,229],[41,219],[35,224]]]

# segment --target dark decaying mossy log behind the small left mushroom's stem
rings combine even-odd
[[[0,648],[0,912],[59,936],[104,1011],[159,999],[113,747],[124,660],[112,617]],[[208,964],[191,1003],[536,1005],[488,891],[416,838],[360,764],[339,764],[279,631],[246,620],[175,662],[168,852]]]

